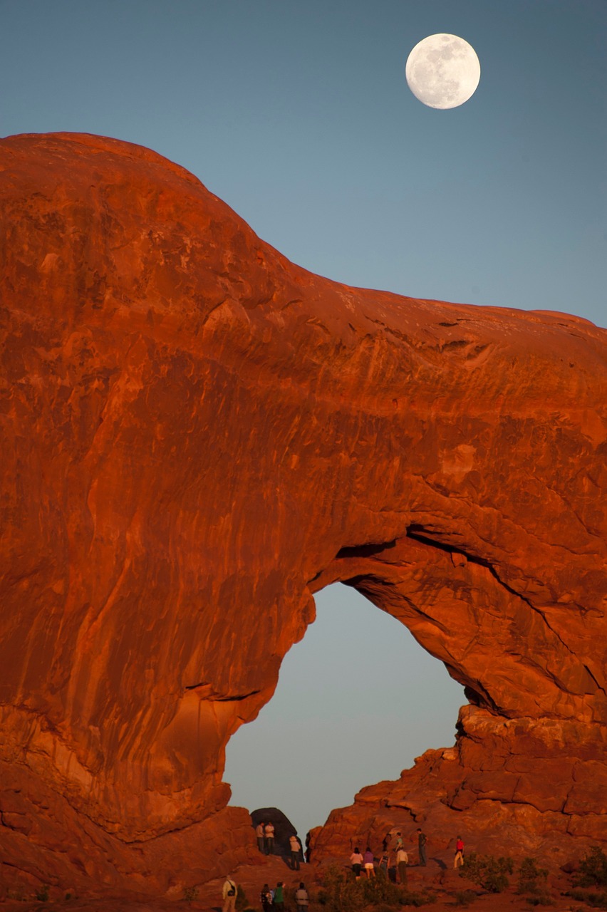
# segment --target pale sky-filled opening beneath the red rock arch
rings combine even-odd
[[[303,837],[367,784],[453,744],[465,697],[404,625],[353,586],[314,596],[316,620],[283,659],[272,700],[232,736],[231,804],[278,807]]]

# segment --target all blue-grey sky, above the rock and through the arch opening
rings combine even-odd
[[[436,32],[480,60],[457,109],[406,86]],[[149,146],[349,285],[605,326],[606,38],[605,0],[0,0],[0,134]],[[234,803],[302,834],[451,744],[463,702],[360,596],[317,605],[226,772]]]

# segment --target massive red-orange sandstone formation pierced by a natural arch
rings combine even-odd
[[[253,857],[225,744],[334,580],[469,705],[316,857],[386,817],[606,840],[604,330],[311,275],[127,143],[0,150],[5,873],[170,894]]]

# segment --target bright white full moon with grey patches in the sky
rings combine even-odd
[[[474,47],[457,35],[430,35],[406,61],[406,81],[428,108],[458,108],[477,90],[480,64]]]

